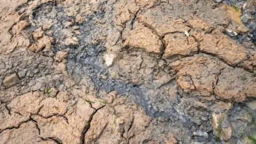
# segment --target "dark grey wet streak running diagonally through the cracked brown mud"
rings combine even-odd
[[[101,5],[106,3],[107,2],[102,3]],[[62,29],[65,28],[66,22],[75,20],[75,18],[68,17],[62,7],[57,6],[53,2],[44,3],[34,10],[33,17],[34,22],[36,23],[36,27],[31,28],[33,30],[42,27],[45,24],[44,21],[41,20],[42,17],[55,21],[54,25],[50,29],[53,31],[53,37],[55,40],[53,52],[57,53],[58,51],[70,49],[66,66],[68,74],[75,82],[79,83],[83,77],[91,78],[97,88],[98,94],[101,91],[117,91],[119,94],[124,95],[124,97],[133,97],[146,111],[148,116],[162,118],[164,122],[168,122],[170,125],[176,125],[177,123],[181,124],[184,129],[186,129],[187,135],[196,139],[198,142],[209,142],[214,139],[212,130],[207,131],[207,138],[194,137],[193,134],[191,134],[191,132],[199,130],[199,125],[191,121],[191,116],[181,115],[177,110],[177,107],[174,106],[180,102],[179,92],[177,93],[177,102],[173,103],[173,105],[165,104],[165,110],[163,111],[157,108],[158,101],[152,101],[147,98],[146,94],[148,94],[147,91],[150,89],[145,85],[125,83],[121,79],[111,78],[108,67],[102,58],[102,55],[106,53],[106,47],[104,46],[105,41],[92,43],[93,38],[101,36],[101,34],[99,34],[100,28],[94,26],[95,20],[93,18],[104,18],[105,12],[94,12],[92,15],[86,17],[83,23],[74,23],[72,26],[79,26],[81,35],[74,35],[79,39],[78,45],[69,46],[63,43],[67,37],[62,33]],[[107,78],[102,79],[100,78],[100,75],[107,76]],[[154,81],[153,78],[152,83]],[[154,87],[153,84],[150,86]],[[210,119],[207,119],[207,121],[209,120]],[[207,122],[202,124],[206,125]],[[211,127],[211,125],[207,125],[207,127]]]

